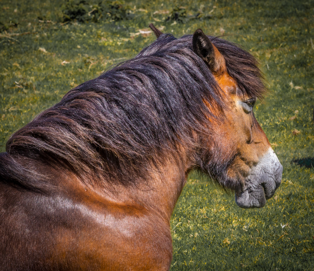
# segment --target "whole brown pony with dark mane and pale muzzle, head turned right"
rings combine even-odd
[[[260,208],[282,166],[253,114],[257,60],[198,29],[70,90],[0,155],[1,270],[169,270],[192,169]]]

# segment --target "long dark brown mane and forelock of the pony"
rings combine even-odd
[[[241,91],[262,97],[257,60],[234,43],[209,38]],[[192,51],[192,36],[163,34],[15,132],[0,155],[0,181],[33,190],[45,186],[48,177],[22,165],[23,157],[67,168],[82,179],[91,175],[123,185],[145,180],[152,166],[180,155],[181,146],[198,148],[192,133],[209,133],[207,116],[223,106],[212,73]]]

